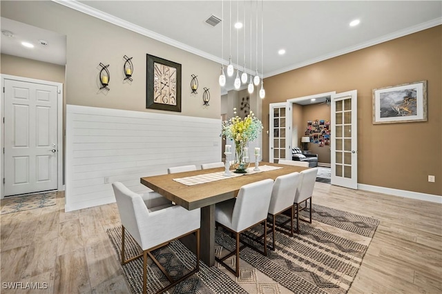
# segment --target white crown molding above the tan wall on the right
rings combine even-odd
[[[367,47],[370,47],[370,46],[374,46],[374,45],[377,45],[379,43],[383,43],[383,42],[386,42],[386,41],[391,41],[393,39],[397,39],[397,38],[400,38],[400,37],[403,37],[403,36],[406,36],[406,35],[413,34],[414,32],[419,32],[421,30],[426,30],[427,28],[432,28],[434,26],[439,26],[441,24],[442,24],[442,18],[432,19],[430,21],[426,21],[425,23],[419,23],[416,26],[411,26],[411,27],[405,28],[403,30],[398,30],[397,32],[392,32],[391,34],[384,35],[383,37],[379,37],[379,38],[376,38],[376,39],[371,39],[371,40],[369,40],[367,42],[360,43],[360,44],[358,44],[356,46],[348,47],[348,48],[345,48],[343,50],[338,50],[338,51],[335,51],[335,52],[332,52],[332,53],[329,53],[329,54],[326,54],[326,55],[323,55],[323,56],[320,56],[320,57],[317,57],[317,58],[314,58],[314,59],[309,59],[307,61],[304,61],[304,62],[301,62],[301,63],[297,63],[297,64],[294,64],[292,66],[287,66],[285,68],[280,68],[279,70],[273,70],[272,72],[268,72],[267,74],[265,74],[264,77],[265,78],[272,77],[273,75],[279,75],[279,74],[281,74],[283,72],[288,72],[290,70],[296,70],[297,68],[302,68],[304,66],[309,66],[311,64],[318,63],[320,61],[324,61],[324,60],[327,60],[327,59],[338,57],[340,55],[345,55],[347,53],[354,52],[354,51],[357,51],[357,50],[361,50],[363,48],[367,48]]]

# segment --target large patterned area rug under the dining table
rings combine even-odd
[[[308,209],[300,213],[302,217],[308,217],[308,214]],[[284,218],[280,217],[278,222]],[[169,293],[347,293],[378,220],[319,205],[313,206],[312,218],[312,224],[300,222],[300,233],[294,237],[277,232],[276,250],[268,251],[268,257],[244,248],[240,252],[240,277],[233,276],[219,264],[208,267],[201,262],[199,273]],[[262,226],[256,226],[250,234],[260,235],[262,229]],[[119,256],[121,227],[108,229],[107,233]],[[126,256],[140,254],[136,242],[126,236]],[[268,241],[271,242],[271,235]],[[234,240],[220,230],[216,232],[215,242],[218,256],[233,251],[235,246]],[[255,245],[259,247],[259,244]],[[191,271],[195,264],[195,255],[178,241],[154,251],[154,255],[173,273],[173,277]],[[235,257],[227,259],[227,264],[235,266]],[[141,293],[142,258],[129,262],[122,269],[131,291]],[[155,289],[166,284],[166,277],[148,259],[148,293],[155,293]]]

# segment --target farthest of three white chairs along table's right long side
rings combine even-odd
[[[310,203],[309,223],[311,224],[311,195],[313,195],[316,175],[318,175],[318,168],[309,168],[300,172],[300,181],[298,188],[296,189],[294,200],[294,210],[296,213],[296,233],[299,233],[299,213],[301,210],[307,208],[307,200],[309,200]],[[305,202],[305,206],[300,208],[299,204],[301,204],[302,202]]]

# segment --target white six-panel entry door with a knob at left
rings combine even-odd
[[[57,86],[5,79],[4,195],[57,189]]]

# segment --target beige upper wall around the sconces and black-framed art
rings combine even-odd
[[[220,118],[219,64],[52,1],[1,1],[1,16],[67,39],[67,104]],[[182,64],[182,112],[146,110],[146,54]],[[133,82],[123,81],[123,56],[133,57]],[[110,91],[99,90],[99,63],[110,64]],[[191,75],[201,91],[191,95]],[[211,100],[203,108],[202,87]]]

